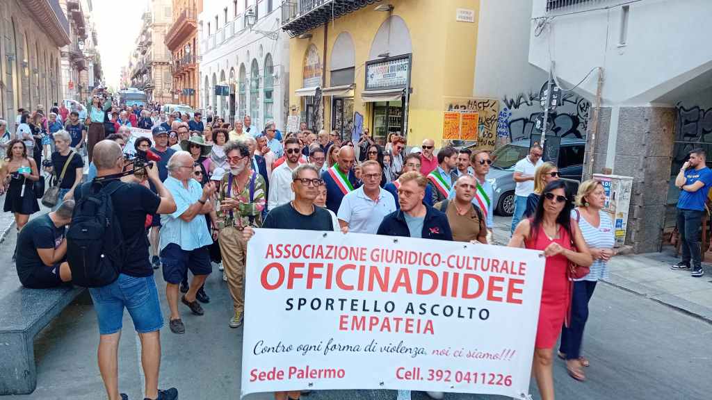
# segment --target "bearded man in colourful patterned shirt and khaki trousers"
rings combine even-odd
[[[225,144],[225,155],[230,171],[223,175],[218,192],[218,243],[234,310],[228,325],[236,328],[242,325],[245,310],[247,239],[243,230],[262,225],[266,192],[262,176],[249,167],[251,157],[247,144],[231,140]]]

